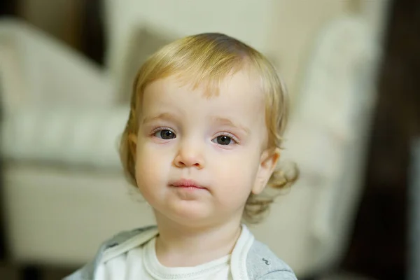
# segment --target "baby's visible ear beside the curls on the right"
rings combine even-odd
[[[252,188],[252,193],[254,195],[260,194],[262,190],[264,190],[265,186],[267,186],[269,178],[272,176],[279,158],[279,148],[268,148],[262,153],[257,178]]]

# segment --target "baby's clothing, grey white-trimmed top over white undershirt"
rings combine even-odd
[[[286,263],[255,241],[246,225],[242,225],[230,255],[196,267],[160,264],[153,240],[158,235],[158,228],[153,226],[120,232],[102,244],[93,262],[64,279],[296,279]]]

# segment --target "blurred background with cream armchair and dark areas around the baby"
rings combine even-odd
[[[420,0],[0,2],[0,279],[62,279],[153,223],[117,143],[141,62],[207,31],[286,81],[301,178],[250,226],[299,279],[420,279]]]

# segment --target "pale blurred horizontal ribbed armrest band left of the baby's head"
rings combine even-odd
[[[11,162],[120,169],[118,140],[129,109],[25,107],[8,113],[1,127],[1,152]]]

